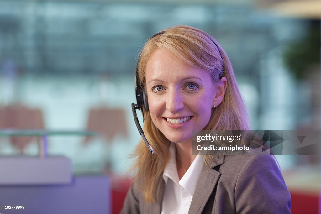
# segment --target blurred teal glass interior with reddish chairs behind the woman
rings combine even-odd
[[[75,176],[110,177],[118,213],[140,140],[131,103],[146,39],[177,24],[210,33],[230,57],[252,130],[320,130],[320,11],[318,0],[0,0],[0,129],[80,132],[49,135],[48,156],[71,159]],[[35,157],[38,147],[37,137],[0,135],[3,157]],[[277,159],[292,213],[318,213],[320,157]]]

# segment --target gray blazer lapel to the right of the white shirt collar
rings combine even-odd
[[[217,157],[218,160],[213,162],[211,168],[207,167],[205,164],[203,165],[188,214],[201,214],[215,186],[217,185],[221,173],[215,171],[213,168],[223,164],[225,158],[224,155],[220,154]]]

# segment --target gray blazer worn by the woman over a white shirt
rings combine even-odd
[[[291,196],[271,155],[216,156],[204,164],[188,214],[291,213]],[[135,183],[128,190],[122,214],[160,214],[165,182],[156,185],[156,203],[145,203]]]

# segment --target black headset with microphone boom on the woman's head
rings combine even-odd
[[[158,35],[161,35],[163,33],[165,33],[166,30],[163,30],[163,31],[160,31],[158,33],[155,33],[154,35],[152,35],[151,38],[149,38],[148,40],[158,36]],[[220,55],[221,55],[221,59],[222,59],[222,71],[219,75],[219,78],[221,79],[224,75],[224,59],[223,59],[223,56],[222,56],[222,53],[220,51],[220,48],[217,46],[217,44],[214,42],[213,39],[211,39],[210,37],[208,37],[208,39],[210,39],[214,45],[217,47]],[[140,125],[139,121],[138,121],[138,117],[137,117],[137,113],[136,113],[136,109],[139,109],[142,111],[143,113],[143,120],[145,119],[144,118],[144,112],[143,112],[143,106],[145,107],[145,110],[146,111],[149,111],[149,107],[148,107],[148,100],[147,100],[147,94],[145,94],[144,92],[144,89],[143,89],[143,85],[141,84],[140,80],[139,80],[139,76],[138,76],[138,65],[139,65],[139,60],[140,60],[140,55],[138,57],[138,61],[137,61],[137,64],[136,64],[136,74],[135,74],[135,79],[136,79],[136,88],[135,88],[135,94],[136,94],[136,101],[137,103],[134,104],[132,103],[132,111],[133,111],[133,116],[134,116],[134,121],[135,121],[135,124],[136,124],[136,127],[138,129],[138,132],[139,134],[142,136],[143,138],[143,141],[145,142],[148,150],[150,151],[151,154],[154,153],[154,150],[152,148],[152,146],[149,144],[149,142],[147,141],[145,135],[144,135],[144,132],[143,132],[143,129],[142,129],[142,126]]]

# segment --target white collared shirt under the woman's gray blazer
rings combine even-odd
[[[197,155],[185,175],[179,180],[175,143],[170,143],[169,152],[170,160],[163,172],[165,190],[161,214],[187,214],[204,164],[203,158]]]

